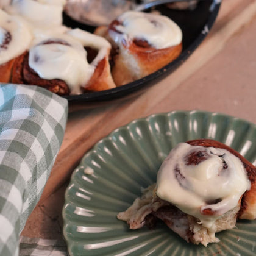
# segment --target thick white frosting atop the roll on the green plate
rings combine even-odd
[[[194,151],[202,151],[207,158],[196,165],[187,165],[187,156]],[[187,143],[172,149],[157,175],[157,196],[198,218],[213,234],[216,219],[236,207],[250,187],[238,157],[225,149]],[[215,200],[219,202],[215,204]],[[205,209],[210,209],[213,215],[205,215]]]

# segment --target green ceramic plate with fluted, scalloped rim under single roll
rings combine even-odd
[[[256,164],[256,126],[201,111],[171,112],[138,119],[99,141],[74,171],[63,208],[70,255],[256,255],[256,221],[217,234],[220,243],[195,246],[159,224],[129,230],[116,214],[155,182],[157,170],[179,142],[212,138]],[[88,174],[93,171],[93,174]]]

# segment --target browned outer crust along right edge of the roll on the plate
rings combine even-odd
[[[192,146],[204,146],[204,147],[215,147],[226,149],[236,157],[240,158],[243,162],[244,168],[248,179],[251,182],[251,188],[249,191],[246,191],[243,194],[241,199],[241,207],[238,212],[238,219],[256,219],[256,168],[252,163],[250,163],[243,155],[239,154],[234,149],[230,148],[226,144],[223,144],[219,141],[210,140],[210,139],[198,139],[187,141],[188,144]]]

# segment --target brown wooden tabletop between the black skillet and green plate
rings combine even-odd
[[[224,0],[204,42],[174,73],[137,98],[70,105],[65,137],[43,195],[21,235],[62,238],[68,179],[80,158],[119,126],[171,110],[221,112],[256,123],[256,1]]]

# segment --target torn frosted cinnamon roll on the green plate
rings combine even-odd
[[[118,219],[130,229],[161,219],[194,244],[218,242],[215,233],[237,219],[256,218],[256,168],[214,140],[179,143],[160,166],[157,182]]]

